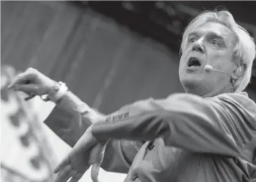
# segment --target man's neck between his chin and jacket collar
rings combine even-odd
[[[212,91],[207,91],[207,89],[203,87],[186,87],[185,88],[186,93],[191,93],[194,95],[202,96],[203,98],[211,97],[215,95],[219,95],[221,93],[232,93],[233,92],[233,86],[228,87],[222,87],[219,89],[214,89]]]

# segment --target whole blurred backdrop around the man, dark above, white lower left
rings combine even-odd
[[[256,38],[253,1],[1,1],[1,181],[48,182],[70,150],[42,124],[54,104],[6,90],[32,67],[108,114],[183,92],[181,34],[202,10],[224,5]],[[255,69],[253,69],[255,73]],[[256,79],[246,89],[256,101]],[[125,174],[100,170],[100,182]],[[80,181],[91,181],[89,171]]]

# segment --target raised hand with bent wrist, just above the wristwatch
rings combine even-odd
[[[55,85],[55,81],[46,77],[37,69],[28,68],[24,73],[17,75],[8,88],[23,91],[28,95],[46,95]]]

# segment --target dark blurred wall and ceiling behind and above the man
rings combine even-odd
[[[1,65],[39,69],[110,113],[135,100],[183,92],[178,78],[181,35],[202,10],[226,6],[256,37],[254,4],[1,1]],[[246,91],[256,100],[255,77]]]

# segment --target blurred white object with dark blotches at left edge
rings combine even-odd
[[[50,182],[57,161],[26,95],[6,88],[15,75],[14,68],[2,66],[1,181]]]

